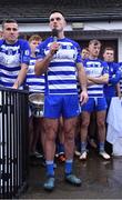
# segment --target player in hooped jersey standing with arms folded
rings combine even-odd
[[[85,160],[88,127],[90,124],[91,112],[96,112],[96,124],[99,133],[99,153],[104,159],[110,159],[110,156],[104,150],[105,142],[105,113],[106,101],[103,93],[103,86],[109,81],[109,68],[106,62],[98,59],[101,49],[99,40],[89,42],[89,58],[83,61],[88,77],[88,94],[89,100],[82,106],[81,114],[81,160]]]

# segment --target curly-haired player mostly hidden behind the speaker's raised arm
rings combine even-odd
[[[35,93],[44,93],[44,74],[35,76],[34,64],[35,64],[35,48],[39,43],[42,42],[42,39],[39,34],[32,34],[29,39],[29,44],[31,49],[29,69],[27,72],[26,84],[29,87],[29,96]],[[42,158],[42,154],[37,150],[37,143],[41,141],[41,147],[44,143],[43,134],[43,118],[37,117],[34,114],[35,107],[30,104],[30,114],[29,114],[29,152],[33,158]]]

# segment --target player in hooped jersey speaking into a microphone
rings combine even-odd
[[[39,46],[35,73],[45,72],[44,128],[47,181],[45,190],[54,188],[53,159],[55,153],[55,134],[59,118],[63,118],[65,149],[65,181],[74,186],[81,184],[72,171],[74,151],[74,130],[80,113],[75,71],[78,69],[82,87],[81,101],[87,102],[87,78],[81,63],[80,48],[77,42],[64,37],[65,20],[60,11],[50,14],[50,28],[58,36],[50,37]]]

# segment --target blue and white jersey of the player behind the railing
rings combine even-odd
[[[11,88],[21,69],[21,63],[29,64],[30,47],[19,39],[13,44],[0,40],[0,87]]]

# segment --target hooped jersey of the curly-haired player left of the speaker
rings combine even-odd
[[[35,76],[34,66],[35,58],[30,58],[26,83],[29,86],[29,92],[44,93],[44,74]]]

